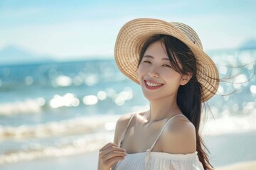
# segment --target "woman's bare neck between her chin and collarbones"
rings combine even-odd
[[[150,110],[147,120],[154,122],[165,118],[170,118],[181,113],[178,108],[176,97],[160,98],[150,101]]]

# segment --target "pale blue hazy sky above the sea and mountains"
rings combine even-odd
[[[256,39],[254,0],[0,0],[0,50],[15,46],[56,60],[113,57],[119,29],[134,18],[186,23],[206,51]]]

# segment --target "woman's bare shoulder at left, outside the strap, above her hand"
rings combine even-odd
[[[132,115],[135,113],[128,113],[125,115],[122,115],[118,120],[114,132],[114,143],[117,144],[119,141],[119,138],[121,137],[122,133],[124,132],[125,128],[127,128],[127,125],[129,123],[129,120],[132,118]]]

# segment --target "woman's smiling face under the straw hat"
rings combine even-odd
[[[139,83],[144,96],[152,100],[176,98],[183,75],[171,67],[163,42],[153,42],[144,52],[138,68]]]

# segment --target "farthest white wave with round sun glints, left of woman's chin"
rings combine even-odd
[[[133,96],[134,92],[132,91],[132,88],[126,86],[119,92],[112,88],[107,88],[106,91],[100,90],[95,92],[95,94],[86,94],[85,96],[75,95],[68,92],[63,95],[54,94],[53,97],[50,96],[48,99],[43,97],[26,98],[21,101],[0,103],[0,115],[9,116],[28,113],[46,113],[49,109],[50,111],[52,111],[52,109],[56,111],[58,108],[94,106],[100,103],[100,101],[122,106],[126,101],[131,101]]]

